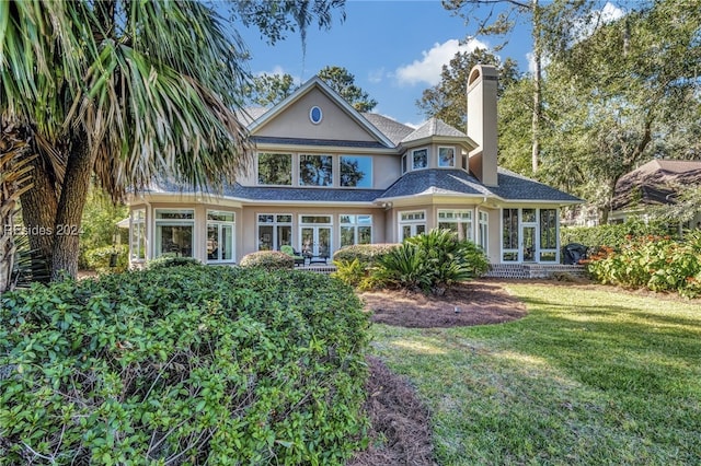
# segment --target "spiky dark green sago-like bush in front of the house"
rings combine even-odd
[[[372,270],[377,284],[443,294],[450,286],[483,275],[489,267],[484,253],[450,230],[434,229],[412,236],[380,256]]]

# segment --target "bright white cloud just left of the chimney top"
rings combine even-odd
[[[400,84],[415,85],[427,83],[436,85],[440,82],[440,71],[444,65],[448,65],[458,51],[472,51],[475,48],[487,48],[483,42],[472,39],[466,45],[460,40],[450,39],[443,44],[434,44],[434,47],[422,51],[423,58],[414,60],[411,65],[400,67],[394,72]]]

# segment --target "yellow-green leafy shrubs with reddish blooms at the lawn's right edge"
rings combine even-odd
[[[601,283],[701,296],[701,232],[685,241],[646,235],[625,238],[617,251],[602,247],[587,260],[591,277]]]

